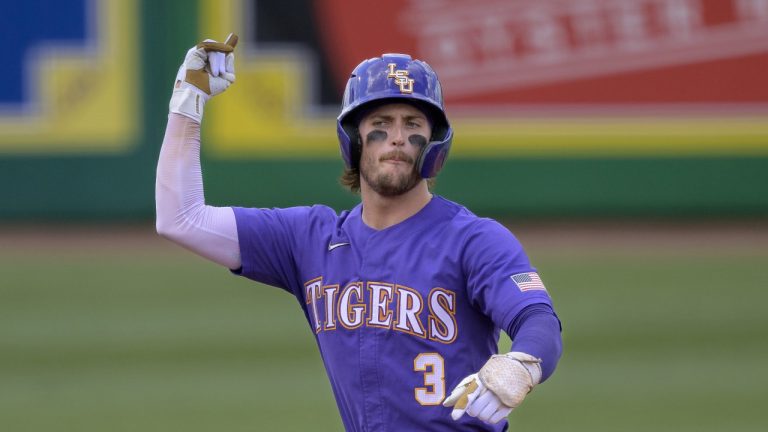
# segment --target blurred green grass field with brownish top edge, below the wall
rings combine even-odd
[[[0,430],[341,430],[296,300],[151,230],[0,231]],[[510,429],[765,430],[768,229],[619,231],[522,231],[565,352]]]

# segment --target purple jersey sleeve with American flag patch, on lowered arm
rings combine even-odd
[[[523,246],[496,221],[481,219],[475,224],[464,246],[462,265],[470,302],[499,328],[508,329],[526,306],[552,307]]]

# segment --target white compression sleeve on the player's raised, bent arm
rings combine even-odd
[[[168,115],[155,182],[156,228],[163,237],[230,269],[241,266],[231,207],[205,205],[200,124]]]

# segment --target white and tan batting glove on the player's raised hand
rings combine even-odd
[[[187,116],[198,123],[203,119],[205,103],[235,82],[237,35],[230,33],[224,43],[206,39],[187,51],[179,67],[169,104],[172,113]]]

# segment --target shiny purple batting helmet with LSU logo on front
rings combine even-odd
[[[427,63],[407,54],[384,54],[364,60],[352,71],[336,121],[347,168],[356,168],[360,161],[360,113],[384,101],[411,103],[427,115],[432,123],[432,137],[416,163],[422,178],[436,176],[451,148],[453,129],[445,116],[437,74]]]

